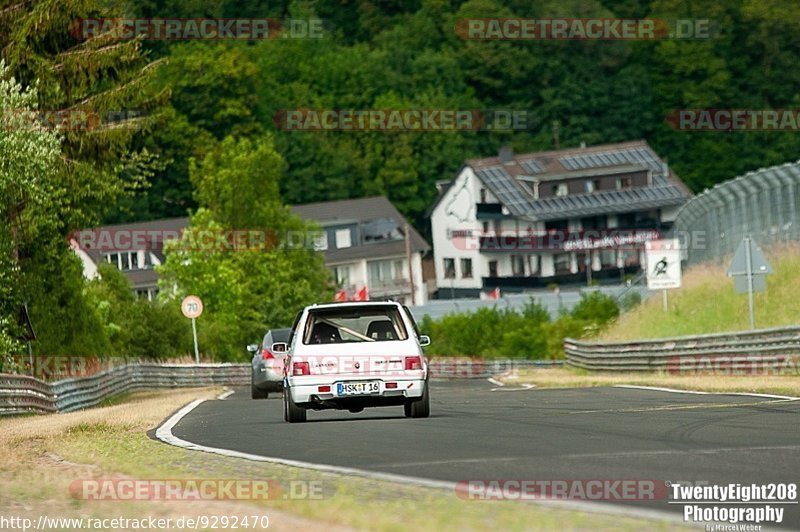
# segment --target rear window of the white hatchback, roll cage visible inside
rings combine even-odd
[[[408,332],[394,306],[312,310],[303,331],[304,344],[406,339]]]

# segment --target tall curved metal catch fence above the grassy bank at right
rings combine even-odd
[[[747,235],[759,244],[800,240],[800,161],[749,172],[689,200],[677,213],[688,264],[732,254]]]

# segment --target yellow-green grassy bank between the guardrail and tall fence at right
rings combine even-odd
[[[755,296],[757,328],[800,323],[800,247],[766,250],[775,273],[767,276],[767,291]],[[597,338],[634,340],[690,334],[743,331],[750,328],[747,294],[739,294],[725,276],[730,259],[699,265],[684,272],[683,286],[669,291],[669,310],[661,294],[620,316]]]

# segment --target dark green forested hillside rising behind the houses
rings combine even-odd
[[[151,188],[108,221],[193,208],[188,159],[227,135],[271,135],[286,203],[386,194],[424,231],[434,183],[466,158],[646,139],[694,190],[797,159],[792,132],[686,132],[678,109],[800,105],[800,6],[788,0],[320,0],[136,3],[143,17],[277,17],[324,23],[321,39],[149,42],[168,58],[163,122],[142,142],[164,161]],[[465,40],[480,17],[707,20],[709,38],[650,41]],[[276,130],[285,109],[524,111],[522,131]],[[122,206],[121,206],[122,207]]]

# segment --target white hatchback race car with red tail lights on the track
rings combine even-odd
[[[295,320],[286,343],[284,419],[306,420],[308,409],[360,412],[400,406],[407,417],[430,415],[428,363],[411,313],[400,303],[312,305]]]

